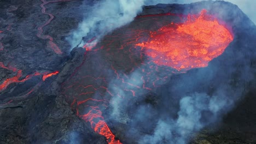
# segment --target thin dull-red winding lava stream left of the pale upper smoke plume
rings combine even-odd
[[[49,39],[49,45],[51,47],[51,49],[57,53],[57,54],[61,54],[62,51],[60,50],[60,48],[53,42],[53,37],[51,37],[50,35],[42,35],[43,33],[43,27],[45,27],[46,25],[48,25],[51,20],[54,19],[54,15],[53,14],[50,14],[50,13],[46,13],[46,8],[44,7],[45,4],[48,4],[48,3],[56,3],[56,2],[66,2],[66,1],[71,1],[71,0],[55,0],[55,1],[45,1],[45,0],[41,0],[43,3],[40,4],[40,7],[42,8],[42,13],[43,14],[46,14],[46,15],[49,15],[50,16],[50,19],[48,21],[46,21],[44,23],[44,25],[38,27],[38,33],[37,33],[37,37],[41,38],[41,39]]]

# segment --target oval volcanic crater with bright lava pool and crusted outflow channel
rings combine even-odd
[[[135,27],[137,23],[143,25]],[[131,111],[138,108],[129,105],[152,104],[142,99],[148,99],[148,93],[158,94],[173,73],[206,67],[232,40],[232,32],[206,9],[197,14],[140,15],[98,44],[91,44],[94,38],[88,40],[83,46],[84,61],[63,84],[63,94],[96,133],[110,144],[121,143],[106,119],[129,123],[128,107]],[[156,107],[152,111],[160,109],[158,104]],[[106,110],[108,114],[104,114]]]

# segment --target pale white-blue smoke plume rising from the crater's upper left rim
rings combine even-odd
[[[91,43],[97,43],[108,32],[125,25],[142,10],[144,0],[106,0],[97,3],[85,17],[76,31],[67,38],[71,47],[83,46],[88,40],[96,37]],[[88,37],[83,41],[83,37]]]

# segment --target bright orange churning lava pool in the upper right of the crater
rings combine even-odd
[[[232,34],[203,9],[200,16],[189,15],[187,22],[150,32],[147,42],[136,44],[158,65],[177,70],[206,67],[221,55],[233,40]]]

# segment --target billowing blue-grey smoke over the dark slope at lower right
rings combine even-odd
[[[159,119],[154,134],[144,136],[139,143],[166,143],[184,144],[189,140],[191,133],[219,120],[224,109],[229,110],[232,99],[225,95],[210,97],[205,93],[195,93],[180,100],[177,119]],[[226,111],[225,110],[225,111]],[[203,113],[207,112],[207,116]]]

